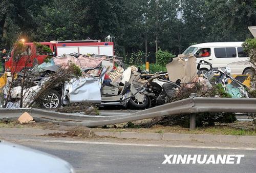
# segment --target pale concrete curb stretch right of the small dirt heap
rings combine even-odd
[[[175,134],[175,133],[156,134],[156,133],[97,132],[97,131],[94,132],[94,134],[100,137],[115,137],[115,138],[124,138],[124,139],[256,144],[256,136],[202,135],[202,134]]]

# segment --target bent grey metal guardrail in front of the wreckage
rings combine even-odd
[[[8,115],[9,117],[19,116],[23,112],[29,112],[36,118],[48,118],[53,122],[59,123],[62,121],[61,123],[65,125],[82,125],[87,127],[103,126],[161,116],[190,114],[190,129],[195,129],[197,113],[256,113],[256,98],[202,98],[191,95],[191,97],[187,99],[160,105],[133,114],[108,117],[82,116],[78,114],[65,114],[38,109],[0,109],[0,118],[6,118]]]

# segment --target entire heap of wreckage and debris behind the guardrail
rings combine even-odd
[[[197,74],[202,64],[210,70]],[[92,105],[146,109],[187,98],[192,92],[199,97],[224,96],[216,92],[216,86],[226,97],[249,97],[248,87],[233,78],[230,69],[212,68],[206,61],[196,66],[193,55],[179,55],[166,68],[167,72],[147,74],[135,66],[125,68],[121,57],[63,54],[34,66],[27,74],[19,73],[16,85],[7,81],[3,90],[5,107],[58,108],[59,112],[96,115]],[[18,82],[24,80],[27,82],[22,87]]]

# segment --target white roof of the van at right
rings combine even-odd
[[[197,45],[191,45],[191,47],[241,47],[243,42],[204,42]]]

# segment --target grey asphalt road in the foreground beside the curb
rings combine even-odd
[[[70,162],[77,172],[255,172],[256,150],[136,146],[122,143],[40,138],[15,143],[41,150]],[[245,155],[241,164],[165,164],[164,154]]]

